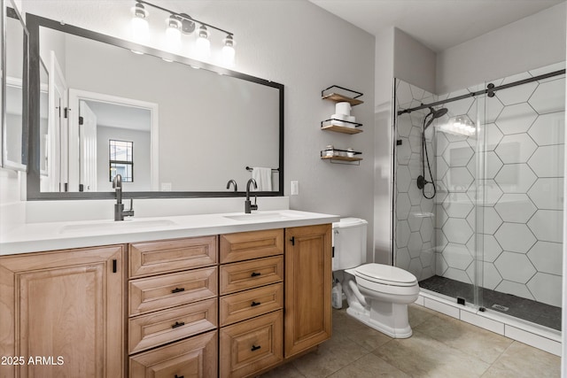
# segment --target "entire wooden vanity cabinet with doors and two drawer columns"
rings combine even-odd
[[[330,231],[0,257],[0,376],[264,373],[330,338]]]

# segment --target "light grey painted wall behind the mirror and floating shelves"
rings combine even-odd
[[[321,8],[301,1],[155,1],[177,12],[226,28],[237,41],[237,71],[285,85],[285,193],[299,181],[293,209],[356,216],[369,220],[373,240],[374,36]],[[27,0],[24,12],[129,39],[128,1]],[[163,37],[159,11],[151,11],[153,40]],[[151,17],[151,16],[150,16]],[[213,45],[224,35],[212,33]],[[364,93],[353,109],[364,124],[361,135],[320,130],[334,104],[321,90],[337,84]],[[360,166],[331,165],[319,157],[327,144],[363,152]],[[372,251],[369,249],[369,251]],[[371,258],[371,257],[370,257]]]

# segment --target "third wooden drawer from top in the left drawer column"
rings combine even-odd
[[[144,351],[163,343],[216,328],[217,301],[207,299],[128,320],[128,351]]]

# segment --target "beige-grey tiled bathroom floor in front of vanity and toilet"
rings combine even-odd
[[[333,310],[333,336],[262,378],[559,377],[561,359],[483,328],[409,306],[414,335],[393,339]]]

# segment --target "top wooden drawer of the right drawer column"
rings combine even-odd
[[[283,253],[283,229],[221,235],[221,264]]]

